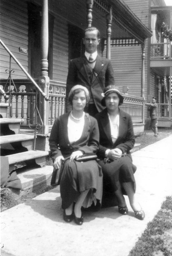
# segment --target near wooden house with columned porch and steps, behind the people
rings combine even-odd
[[[89,26],[101,31],[98,52],[112,59],[115,80],[120,86],[124,77],[118,81],[116,66],[120,59],[111,54],[111,42],[122,40],[127,46],[121,58],[128,54],[130,42],[139,46],[140,79],[131,95],[124,91],[122,108],[131,114],[135,133],[143,131],[145,40],[152,32],[125,1],[1,0],[0,19],[1,149],[8,171],[21,158],[27,163],[35,158],[40,166],[45,164],[49,132],[55,118],[65,111],[68,63],[84,52],[83,31]],[[29,136],[32,129],[34,138]],[[13,158],[8,150],[13,151]],[[45,150],[46,154],[41,155],[40,151]],[[20,154],[19,158],[15,153]]]

